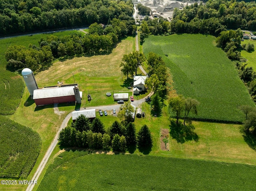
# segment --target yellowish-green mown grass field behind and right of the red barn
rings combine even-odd
[[[132,91],[127,89],[129,85],[124,85],[126,76],[122,75],[119,65],[123,55],[133,50],[133,45],[134,37],[127,37],[108,55],[58,61],[50,69],[35,76],[38,86],[57,85],[58,81],[63,84],[78,83],[79,90],[83,92],[81,107],[115,104],[113,96],[106,96],[107,92],[112,95],[113,93],[132,95]],[[87,101],[88,92],[92,96],[90,102]]]

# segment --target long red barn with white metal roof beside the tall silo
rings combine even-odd
[[[54,103],[75,102],[74,88],[76,85],[65,87],[48,87],[34,90],[33,99],[37,106]],[[82,92],[80,97],[82,97]]]

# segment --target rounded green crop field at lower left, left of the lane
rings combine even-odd
[[[40,136],[2,115],[0,132],[0,177],[26,178],[41,150]]]

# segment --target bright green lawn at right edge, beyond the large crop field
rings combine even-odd
[[[251,40],[251,39],[245,39],[244,41],[241,42],[242,44],[246,43],[253,43],[254,44],[254,49],[256,49],[256,40]],[[241,55],[247,59],[246,63],[248,64],[248,67],[252,67],[254,71],[256,70],[256,51],[252,52],[247,52],[246,50],[241,51]]]

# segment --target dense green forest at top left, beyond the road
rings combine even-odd
[[[0,0],[0,35],[38,30],[109,24],[132,16],[130,0]]]

